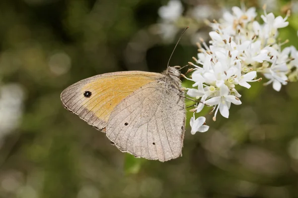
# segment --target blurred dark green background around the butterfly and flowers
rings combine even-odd
[[[167,2],[0,1],[0,198],[298,198],[297,83],[281,92],[262,83],[242,89],[229,119],[207,115],[210,130],[188,129],[183,156],[164,163],[120,152],[63,108],[60,93],[81,79],[161,72],[189,25],[171,59],[187,64],[198,38],[209,38],[203,20],[240,5],[183,0],[185,17],[165,35],[158,9]],[[261,13],[266,2],[268,12],[292,9],[280,36],[298,47],[298,3],[245,4]]]

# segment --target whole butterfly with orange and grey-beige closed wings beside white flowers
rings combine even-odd
[[[123,152],[167,161],[182,155],[185,131],[180,71],[124,71],[81,80],[61,94],[64,107]]]

